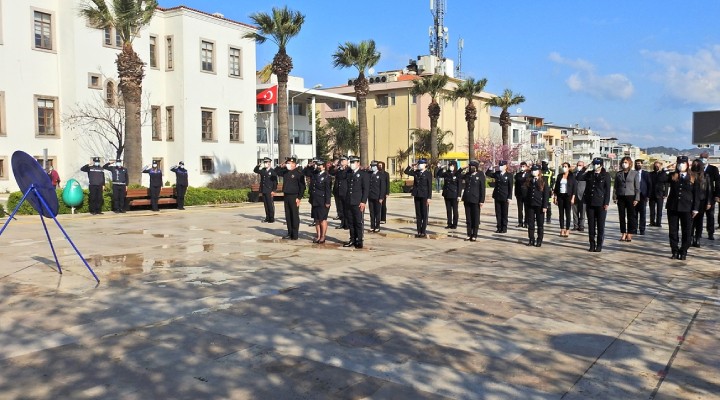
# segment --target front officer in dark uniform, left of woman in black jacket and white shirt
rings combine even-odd
[[[541,167],[533,165],[530,168],[531,178],[525,180],[527,191],[525,197],[525,218],[528,226],[528,246],[542,246],[545,234],[545,213],[550,209],[550,185],[542,177]],[[535,224],[537,224],[537,238],[535,237]]]

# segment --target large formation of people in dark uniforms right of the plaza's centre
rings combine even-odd
[[[295,157],[289,157],[275,168],[271,164],[272,161],[265,158],[254,172],[260,175],[266,215],[263,222],[275,221],[273,196],[278,189],[278,178],[282,177],[287,224],[284,239],[298,239],[299,207],[306,192],[306,179],[310,188],[311,225],[316,231],[313,243],[325,243],[333,197],[336,219],[340,220],[336,229],[350,232],[344,247],[363,247],[366,208],[370,211],[370,232],[379,232],[380,225],[385,223],[390,175],[384,163],[372,161],[369,167],[362,168],[358,158],[341,157],[332,163],[312,160],[301,168]],[[485,171],[477,160],[471,160],[467,168],[459,168],[457,162],[450,161],[447,166],[430,171],[427,160],[420,159],[404,170],[414,178],[411,194],[415,204],[416,238],[427,237],[433,172],[435,178],[443,182],[441,195],[447,214],[446,229],[457,228],[458,205],[463,202],[466,241],[477,240],[488,178],[494,181],[495,233],[507,233],[508,210],[514,195],[518,227],[527,228],[528,246],[542,246],[544,225],[551,221],[551,203],[558,208],[561,237],[570,236],[571,221],[572,230],[580,232],[585,230],[587,221],[590,252],[603,249],[610,201],[618,207],[621,242],[631,242],[636,234],[644,235],[646,226],[662,227],[663,204],[667,211],[671,258],[685,260],[690,247],[700,247],[704,221],[707,221],[707,238],[715,239],[714,209],[715,203],[720,202],[720,173],[717,167],[708,164],[707,152],[692,162],[687,156],[678,156],[675,163],[667,166],[656,161],[652,171],[644,169],[643,160],[633,162],[630,157],[624,157],[614,177],[605,169],[601,158],[594,158],[587,167],[583,161],[577,162],[575,168],[563,163],[557,175],[548,168],[547,160],[540,164],[521,162],[513,174],[508,171],[506,161]]]

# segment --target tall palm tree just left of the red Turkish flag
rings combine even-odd
[[[265,43],[270,39],[278,46],[273,57],[272,72],[278,78],[278,159],[290,156],[290,133],[288,128],[288,93],[287,81],[292,71],[292,58],[287,54],[287,44],[300,33],[305,15],[287,8],[273,7],[272,13],[253,13],[250,19],[258,26],[257,32],[246,33],[246,39],[254,39],[257,43]],[[294,132],[293,132],[294,133]]]

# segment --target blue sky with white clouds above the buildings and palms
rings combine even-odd
[[[720,110],[718,0],[446,0],[445,56],[462,74],[488,80],[486,91],[525,96],[521,113],[546,123],[578,124],[641,147],[692,146],[693,111]],[[398,70],[429,54],[430,0],[160,0],[252,23],[253,12],[287,5],[305,14],[288,45],[291,75],[305,86],[347,83],[336,69],[339,44],[373,39],[376,71]],[[258,68],[272,61],[257,46]],[[517,110],[511,110],[517,111]],[[499,110],[492,110],[493,114]]]

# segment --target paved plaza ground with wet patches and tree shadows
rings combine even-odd
[[[59,275],[39,217],[18,217],[0,236],[0,398],[720,398],[720,240],[671,260],[664,229],[617,241],[611,207],[588,253],[554,209],[526,247],[492,233],[488,201],[465,242],[439,196],[427,239],[392,197],[361,250],[334,221],[312,244],[307,203],[298,241],[281,203],[274,224],[262,204],[61,216],[99,285],[50,222]]]

